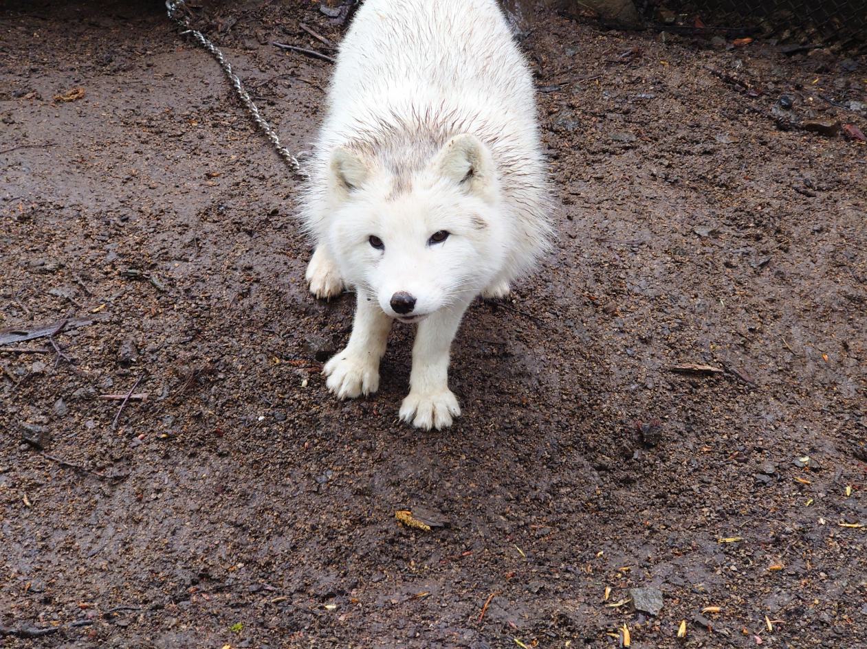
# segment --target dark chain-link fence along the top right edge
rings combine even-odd
[[[708,27],[753,28],[781,42],[867,43],[867,0],[667,0],[645,8],[654,5],[697,16]]]

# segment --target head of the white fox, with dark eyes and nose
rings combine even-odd
[[[346,282],[401,321],[468,302],[505,256],[497,167],[470,134],[413,172],[351,146],[329,160],[329,248]]]

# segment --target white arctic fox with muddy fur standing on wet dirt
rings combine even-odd
[[[508,295],[551,235],[530,72],[495,0],[366,0],[344,38],[310,162],[306,278],[355,290],[324,367],[341,399],[375,393],[392,321],[418,325],[400,416],[460,415],[449,347],[477,295]]]

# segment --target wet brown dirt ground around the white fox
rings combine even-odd
[[[329,63],[269,42],[341,28],[197,16],[308,146]],[[867,647],[867,146],[809,125],[867,131],[864,56],[540,17],[557,247],[420,432],[409,327],[327,393],[354,299],[307,294],[295,179],[161,3],[0,29],[0,329],[85,319],[0,347],[0,646]]]

